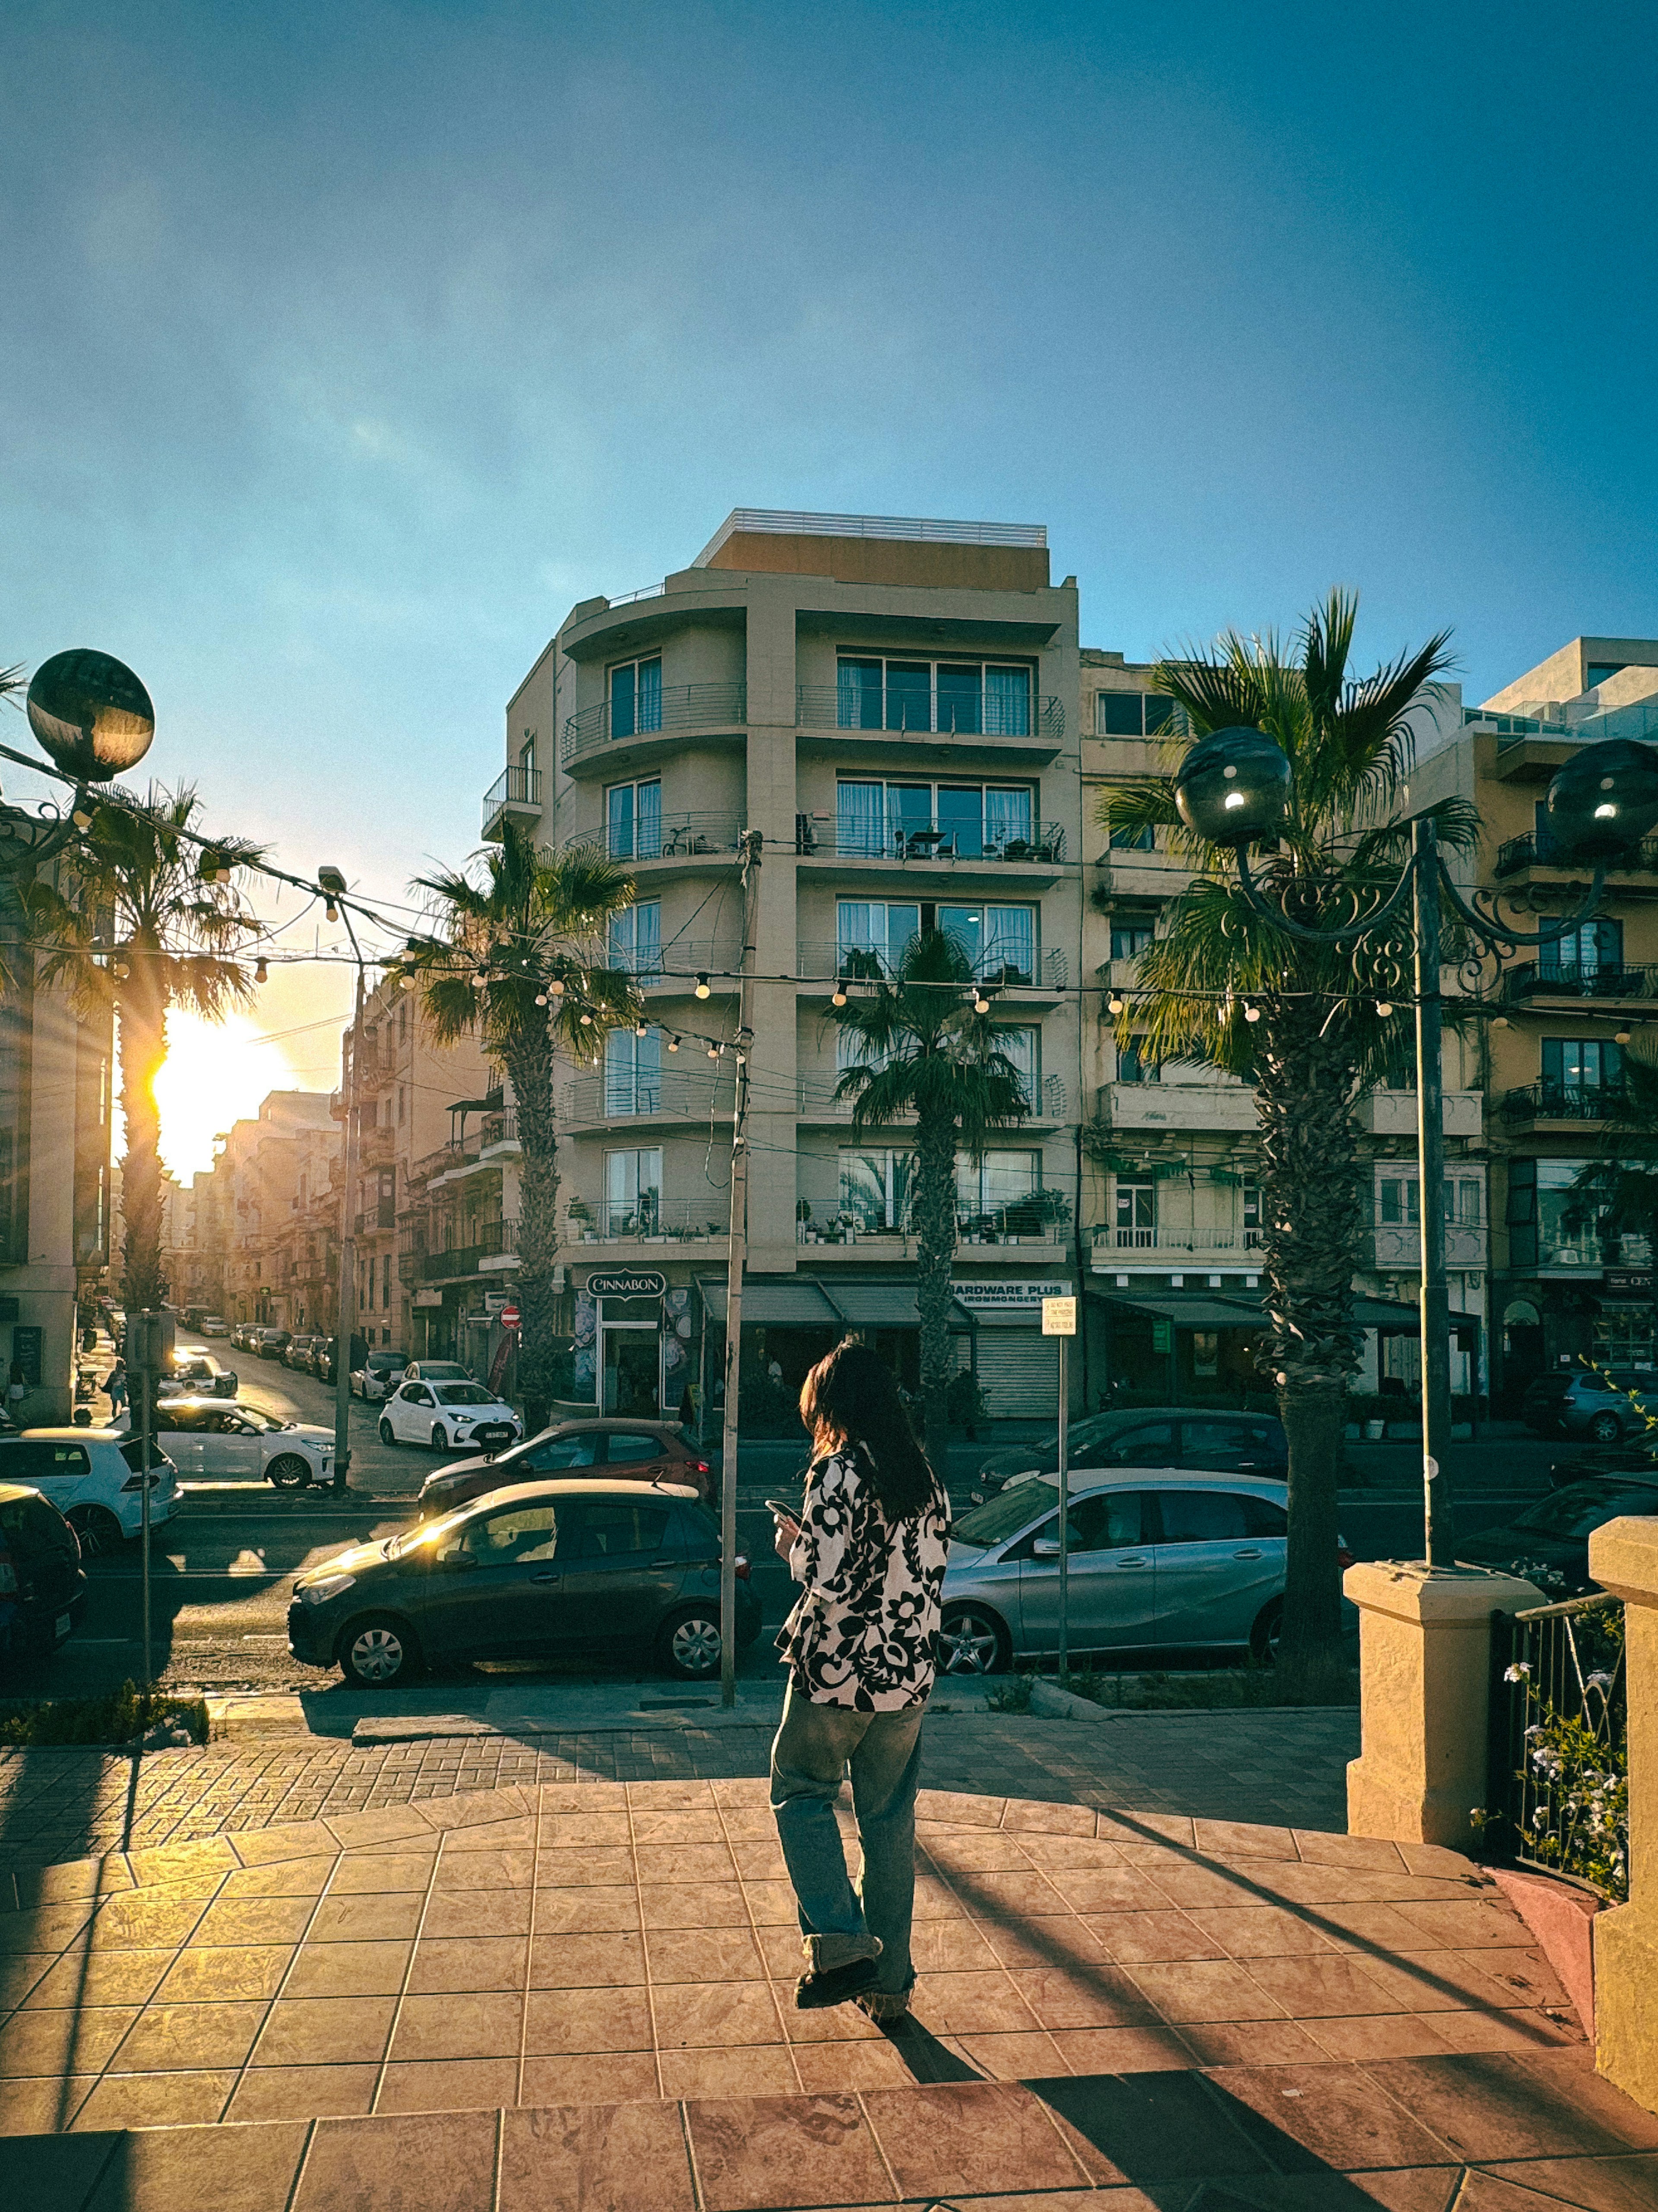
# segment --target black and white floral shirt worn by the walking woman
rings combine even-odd
[[[796,1697],[902,1712],[933,1688],[951,1509],[940,1489],[889,1522],[862,1447],[814,1460],[789,1573],[805,1584],[783,1624]]]

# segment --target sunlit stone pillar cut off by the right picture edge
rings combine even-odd
[[[1589,1537],[1589,1573],[1625,1601],[1629,1902],[1594,1920],[1594,2062],[1658,2112],[1658,1520]]]

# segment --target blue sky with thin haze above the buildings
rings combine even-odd
[[[391,894],[734,504],[1046,522],[1130,655],[1654,635],[1654,24],[13,0],[0,659]]]

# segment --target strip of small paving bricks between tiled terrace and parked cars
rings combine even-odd
[[[0,1867],[153,1849],[279,1820],[466,1790],[765,1774],[769,1728],[641,1728],[351,1745],[314,1736],[225,1750],[0,1752]],[[1046,1803],[1346,1827],[1357,1714],[1134,1712],[1108,1721],[933,1714],[924,1783]]]

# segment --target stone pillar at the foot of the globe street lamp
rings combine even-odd
[[[1393,1843],[1475,1843],[1486,1805],[1490,1617],[1545,1606],[1530,1582],[1477,1566],[1366,1559],[1342,1588],[1360,1608],[1362,1750],[1346,1827]]]

